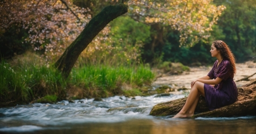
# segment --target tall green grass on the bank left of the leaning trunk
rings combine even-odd
[[[47,94],[60,95],[66,81],[54,68],[36,66],[29,62],[10,64],[0,62],[0,100],[1,102],[38,99]]]

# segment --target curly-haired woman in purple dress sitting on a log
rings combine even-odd
[[[234,55],[222,40],[213,41],[210,52],[212,57],[217,58],[211,71],[206,76],[191,82],[188,99],[182,110],[173,118],[193,116],[200,95],[205,97],[210,110],[236,101],[237,88],[233,80],[236,74]]]

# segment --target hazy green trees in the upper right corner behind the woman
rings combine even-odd
[[[227,9],[218,20],[224,40],[238,61],[244,61],[256,53],[256,1],[255,0],[214,0]]]

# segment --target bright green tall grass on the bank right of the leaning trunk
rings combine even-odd
[[[103,96],[123,94],[123,85],[132,89],[147,85],[154,79],[149,67],[143,65],[132,67],[111,67],[108,65],[88,65],[74,68],[70,75],[70,83],[85,89],[86,96]],[[136,91],[137,92],[137,91]]]

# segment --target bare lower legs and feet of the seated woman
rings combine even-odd
[[[182,110],[178,114],[176,114],[173,118],[184,118],[184,117],[188,117],[188,115],[190,117],[191,114],[189,114],[188,112],[190,112],[194,115],[195,107],[199,100],[200,94],[202,94],[204,96],[203,86],[204,86],[204,83],[199,82],[199,81],[195,82],[194,86],[192,87],[192,89],[189,93],[189,96],[188,96],[188,99],[187,99],[185,105],[182,107]],[[193,112],[191,112],[191,111],[193,111]]]

